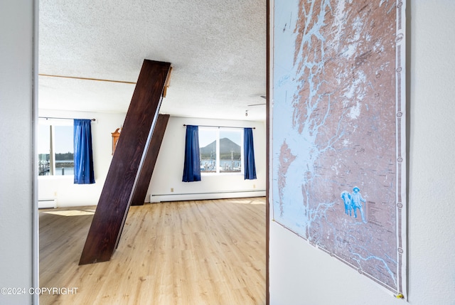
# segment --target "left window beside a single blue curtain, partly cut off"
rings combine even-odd
[[[38,175],[73,176],[73,124],[38,124]]]

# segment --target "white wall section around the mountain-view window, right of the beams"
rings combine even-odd
[[[255,127],[255,164],[257,179],[245,180],[242,174],[202,174],[201,181],[182,182],[186,128],[183,124],[225,127]],[[266,150],[265,122],[228,121],[170,117],[146,200],[195,200],[265,196]],[[173,188],[173,192],[171,192]],[[151,197],[150,197],[151,195]]]

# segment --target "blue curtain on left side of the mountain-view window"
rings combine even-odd
[[[200,181],[199,128],[186,125],[183,182]]]

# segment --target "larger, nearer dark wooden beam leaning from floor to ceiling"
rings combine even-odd
[[[144,60],[79,264],[106,262],[117,247],[170,67]]]

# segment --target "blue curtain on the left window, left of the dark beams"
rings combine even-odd
[[[90,119],[74,120],[74,183],[95,183]]]

